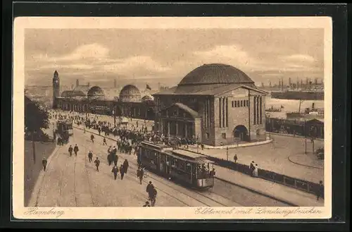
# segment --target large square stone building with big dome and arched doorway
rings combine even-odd
[[[211,146],[265,140],[266,94],[238,68],[204,64],[177,86],[153,94],[155,128]]]

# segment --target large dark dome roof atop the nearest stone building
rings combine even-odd
[[[246,73],[238,68],[222,63],[210,63],[200,66],[188,73],[179,83],[182,85],[217,85],[217,84],[254,83]]]

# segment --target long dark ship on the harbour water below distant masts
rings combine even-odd
[[[273,91],[271,97],[276,99],[304,99],[304,100],[324,100],[323,90],[302,90],[302,91]]]

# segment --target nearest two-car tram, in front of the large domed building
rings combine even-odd
[[[195,152],[144,141],[139,145],[138,162],[149,171],[191,188],[206,190],[214,185],[214,177],[210,176],[213,162]]]

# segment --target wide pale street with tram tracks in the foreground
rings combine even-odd
[[[196,207],[196,206],[288,206],[258,193],[253,193],[237,185],[215,180],[213,189],[206,192],[189,190],[165,178],[148,172],[142,185],[137,179],[137,157],[118,154],[118,166],[127,159],[130,167],[123,180],[120,175],[113,179],[112,166],[108,166],[107,149],[115,145],[95,135],[94,144],[90,133],[74,129],[74,135],[68,145],[62,146],[53,154],[44,175],[37,183],[37,195],[34,195],[37,207],[141,207],[147,200],[146,184],[152,181],[158,190],[156,207]],[[80,151],[75,157],[68,154],[69,145],[77,144]],[[93,163],[89,163],[89,149],[94,157],[99,157],[99,172]],[[32,205],[34,206],[34,205]]]

